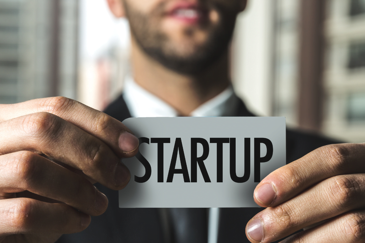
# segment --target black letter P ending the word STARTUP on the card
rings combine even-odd
[[[260,144],[266,145],[266,155],[260,157]],[[254,141],[254,181],[260,182],[260,163],[268,162],[273,157],[273,144],[267,138],[255,138]]]

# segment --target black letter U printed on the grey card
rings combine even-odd
[[[229,170],[231,179],[237,183],[244,183],[250,178],[250,138],[245,138],[245,173],[242,177],[238,177],[236,173],[236,138],[230,138],[229,142]]]

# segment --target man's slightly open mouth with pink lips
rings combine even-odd
[[[207,16],[208,9],[198,3],[180,1],[174,4],[168,11],[167,16],[188,24],[200,23]]]

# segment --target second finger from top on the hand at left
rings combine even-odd
[[[130,172],[98,138],[51,113],[41,112],[0,123],[0,154],[30,150],[79,169],[111,189],[124,188]],[[1,142],[1,141],[0,141]]]

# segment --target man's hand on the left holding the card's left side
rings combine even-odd
[[[121,122],[64,97],[0,105],[0,242],[54,242],[84,230],[130,180],[120,158],[138,139]],[[62,165],[62,166],[61,166]]]

